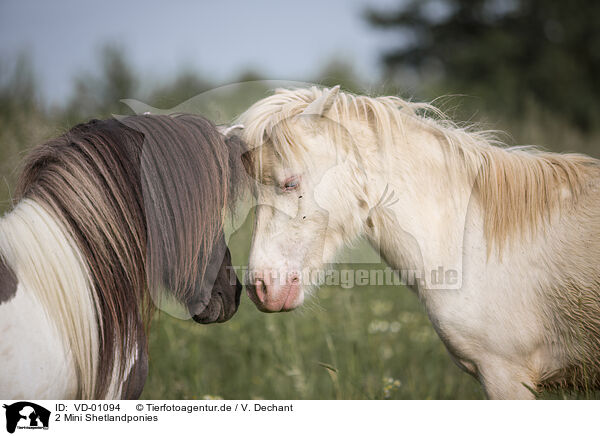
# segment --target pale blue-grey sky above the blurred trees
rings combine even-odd
[[[0,0],[0,60],[29,51],[45,97],[60,103],[72,78],[93,72],[106,42],[126,50],[146,81],[183,67],[217,83],[246,69],[265,78],[306,80],[331,58],[351,62],[366,81],[380,74],[379,55],[393,32],[374,30],[368,5],[398,0],[187,1]]]

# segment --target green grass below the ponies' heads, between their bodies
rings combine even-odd
[[[479,399],[407,289],[322,288],[308,307],[263,314],[244,295],[229,322],[162,314],[143,397]]]

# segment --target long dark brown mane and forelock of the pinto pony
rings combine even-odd
[[[100,325],[95,397],[115,374],[124,378],[125,359],[115,356],[146,355],[149,289],[198,301],[243,174],[243,148],[200,116],[149,115],[78,125],[27,157],[17,200],[36,201],[62,223],[91,275]]]

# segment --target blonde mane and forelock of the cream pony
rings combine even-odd
[[[288,161],[308,163],[307,150],[295,141],[292,121],[328,89],[318,87],[279,89],[258,101],[237,120],[244,124],[244,138],[251,146],[266,142]],[[451,175],[474,182],[484,213],[488,242],[498,250],[525,230],[535,231],[553,211],[572,207],[600,174],[600,161],[581,154],[557,154],[534,147],[506,147],[494,132],[460,127],[429,103],[399,97],[368,97],[339,92],[323,128],[340,147],[347,147],[350,123],[367,125],[385,153],[402,147],[406,131],[415,127],[439,141]],[[361,147],[361,144],[358,144]],[[263,163],[254,159],[258,171]]]

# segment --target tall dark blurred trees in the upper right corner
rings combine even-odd
[[[598,127],[598,1],[404,0],[367,19],[397,40],[382,57],[388,77],[415,74],[425,92],[478,96],[516,119],[533,103],[584,131]]]

